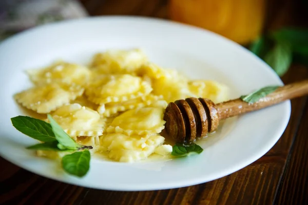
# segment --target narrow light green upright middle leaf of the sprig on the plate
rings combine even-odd
[[[51,115],[47,115],[52,131],[55,135],[57,141],[62,145],[58,146],[59,149],[70,149],[70,150],[78,150],[81,146],[78,145],[64,130],[56,123],[56,121],[51,117]]]

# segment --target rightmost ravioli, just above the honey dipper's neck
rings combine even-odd
[[[197,97],[208,98],[216,104],[229,98],[228,87],[213,80],[192,80],[188,86]]]

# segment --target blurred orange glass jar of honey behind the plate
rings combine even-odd
[[[242,45],[260,35],[264,14],[265,0],[169,0],[170,19],[213,31]]]

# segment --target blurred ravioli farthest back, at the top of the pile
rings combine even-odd
[[[101,74],[126,74],[135,72],[147,60],[147,56],[140,49],[108,50],[96,54],[91,67]]]

